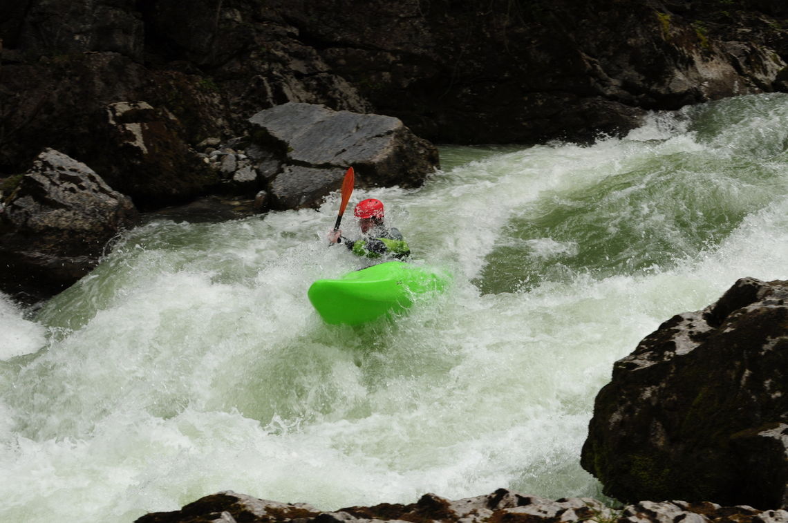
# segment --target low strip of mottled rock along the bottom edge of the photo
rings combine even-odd
[[[641,502],[613,510],[597,499],[544,499],[501,488],[489,495],[452,501],[423,495],[409,505],[381,503],[322,512],[304,503],[285,504],[233,491],[219,492],[189,503],[181,510],[139,517],[136,523],[377,523],[380,521],[441,521],[442,523],[788,523],[785,510],[761,511],[748,506],[713,503]]]

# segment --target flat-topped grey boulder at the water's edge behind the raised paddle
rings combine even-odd
[[[270,182],[273,206],[315,206],[349,166],[357,187],[418,187],[439,165],[436,147],[402,121],[288,102],[251,117],[255,141],[281,159]]]

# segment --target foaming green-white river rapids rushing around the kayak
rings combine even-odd
[[[0,521],[133,521],[234,490],[322,510],[506,487],[594,496],[611,365],[739,277],[788,278],[788,95],[590,147],[442,147],[376,197],[451,273],[396,321],[322,324],[355,268],[319,210],[155,221],[43,309],[0,295]],[[344,221],[345,230],[355,224]]]

